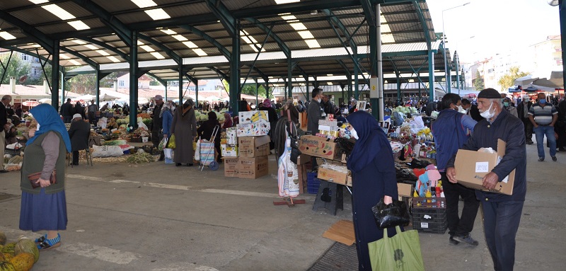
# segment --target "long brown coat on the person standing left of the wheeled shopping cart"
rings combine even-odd
[[[175,163],[192,163],[195,155],[192,149],[192,142],[197,136],[197,117],[195,117],[195,109],[190,110],[183,115],[183,105],[175,110],[173,115],[173,123],[171,123],[171,131],[175,134],[175,155],[173,161]]]

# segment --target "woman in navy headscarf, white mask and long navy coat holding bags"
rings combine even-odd
[[[379,200],[386,204],[397,198],[397,180],[391,144],[383,129],[369,113],[354,112],[347,117],[352,137],[357,139],[347,166],[352,171],[352,213],[359,270],[371,270],[367,244],[383,238],[371,212]],[[391,230],[391,229],[389,229]],[[395,235],[395,228],[388,231]]]

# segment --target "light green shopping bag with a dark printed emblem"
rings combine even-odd
[[[389,238],[383,229],[383,238],[368,243],[371,270],[374,271],[424,271],[420,251],[419,233],[416,230],[401,231]]]

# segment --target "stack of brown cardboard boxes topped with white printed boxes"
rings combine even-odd
[[[267,111],[241,112],[240,124],[226,129],[221,142],[224,175],[255,179],[269,172],[270,122]]]

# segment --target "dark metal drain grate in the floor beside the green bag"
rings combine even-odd
[[[309,271],[358,270],[356,245],[346,246],[335,242],[314,263]]]

